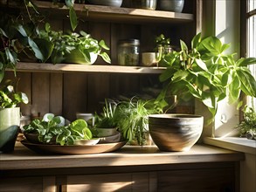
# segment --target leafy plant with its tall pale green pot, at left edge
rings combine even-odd
[[[0,86],[0,151],[11,152],[17,139],[20,123],[19,103],[29,102],[25,93],[16,91],[17,82],[6,80]]]

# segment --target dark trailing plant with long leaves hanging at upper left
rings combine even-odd
[[[7,68],[14,70],[19,56],[34,57],[45,62],[50,57],[52,44],[45,39],[36,38],[36,26],[24,23],[18,17],[0,13],[0,82]],[[40,48],[39,48],[40,47]]]

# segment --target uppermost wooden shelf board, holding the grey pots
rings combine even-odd
[[[34,1],[40,10],[46,10],[49,14],[56,15],[56,12],[67,14],[64,4],[53,4],[51,2]],[[118,8],[92,4],[74,4],[77,15],[88,20],[108,22],[139,22],[139,23],[187,23],[194,21],[193,14],[176,13],[163,10],[142,10],[132,8]],[[58,10],[58,11],[56,11]],[[54,17],[53,16],[53,17]]]

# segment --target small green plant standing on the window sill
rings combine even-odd
[[[243,109],[244,120],[235,128],[239,129],[240,136],[250,136],[251,139],[256,138],[256,112],[253,107],[245,106]]]

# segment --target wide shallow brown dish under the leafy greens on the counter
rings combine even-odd
[[[38,143],[31,143],[30,141],[20,141],[25,147],[39,154],[100,154],[106,152],[113,152],[123,147],[127,141],[119,141],[113,143],[102,143],[96,145],[85,146],[60,146],[60,145],[45,145]]]

